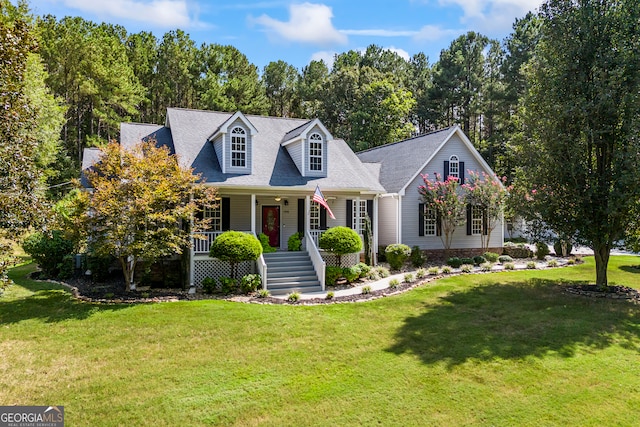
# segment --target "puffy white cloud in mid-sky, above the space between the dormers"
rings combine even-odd
[[[254,22],[264,26],[270,36],[288,41],[330,46],[345,44],[347,36],[331,23],[333,11],[323,4],[292,4],[289,21],[283,22],[268,15],[261,15]]]

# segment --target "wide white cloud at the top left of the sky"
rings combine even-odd
[[[64,4],[98,16],[144,21],[163,28],[203,26],[189,16],[186,0],[64,0]]]

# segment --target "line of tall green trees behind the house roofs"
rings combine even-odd
[[[69,172],[58,182],[77,175],[85,147],[117,139],[121,122],[163,123],[167,107],[318,117],[354,150],[459,124],[489,164],[510,175],[522,65],[539,27],[529,14],[502,42],[463,34],[434,63],[371,45],[336,55],[331,68],[311,61],[298,70],[278,60],[260,70],[235,47],[198,46],[182,30],[158,38],[23,9],[46,87],[64,110],[57,164]]]

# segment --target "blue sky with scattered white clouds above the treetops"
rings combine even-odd
[[[370,44],[429,62],[467,31],[503,40],[515,18],[542,0],[30,0],[38,15],[82,16],[156,37],[180,28],[201,43],[230,44],[260,70],[283,60],[302,69],[312,59]]]

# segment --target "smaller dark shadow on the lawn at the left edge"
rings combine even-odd
[[[33,292],[24,298],[3,300],[0,298],[0,325],[17,323],[28,319],[40,319],[45,322],[60,322],[68,319],[81,320],[101,311],[115,311],[128,308],[128,305],[101,305],[78,301],[69,290],[50,282],[36,282],[26,278],[33,268],[16,267],[10,272],[15,282]]]

